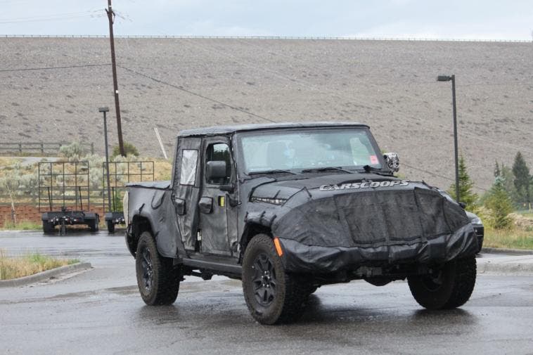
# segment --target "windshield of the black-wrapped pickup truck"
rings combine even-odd
[[[338,167],[381,168],[377,146],[366,129],[343,128],[243,134],[240,144],[245,172]]]

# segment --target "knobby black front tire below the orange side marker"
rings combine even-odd
[[[261,257],[266,257],[271,263],[276,281],[275,294],[266,305],[260,304],[256,298],[256,290],[260,288],[256,288],[259,271],[256,271],[258,268],[255,264]],[[285,273],[281,257],[269,235],[258,234],[250,240],[243,257],[243,292],[250,314],[256,321],[268,325],[297,321],[307,303],[308,288],[297,276]]]

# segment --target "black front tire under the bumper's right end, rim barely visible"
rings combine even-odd
[[[411,294],[420,306],[427,309],[453,309],[470,299],[475,276],[475,257],[471,256],[444,265],[439,278],[409,276],[407,280]]]

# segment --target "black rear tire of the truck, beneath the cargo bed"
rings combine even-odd
[[[150,287],[147,286],[146,267],[143,268],[145,252],[149,254],[151,272]],[[153,236],[148,231],[141,233],[135,257],[137,285],[144,303],[149,306],[173,304],[178,297],[181,269],[172,265],[172,259],[158,253]]]

